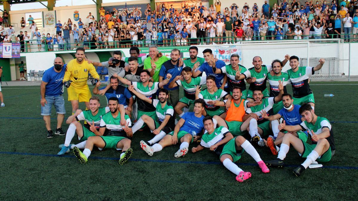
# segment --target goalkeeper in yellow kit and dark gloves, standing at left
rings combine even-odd
[[[101,85],[100,76],[96,72],[95,67],[84,61],[84,49],[76,49],[76,59],[72,59],[67,64],[66,72],[63,78],[63,84],[67,87],[68,100],[72,104],[72,113],[78,109],[78,102],[84,102],[86,108],[89,109],[89,98],[91,91],[87,85],[88,72],[94,79],[91,80],[92,85]]]

